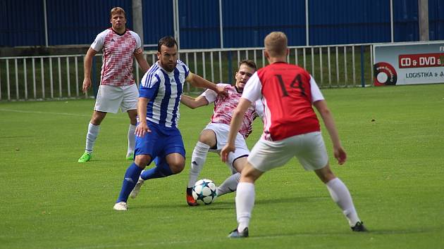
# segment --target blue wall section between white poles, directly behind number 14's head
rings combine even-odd
[[[218,2],[218,1],[215,1]],[[261,47],[274,30],[285,32],[289,45],[305,44],[305,1],[223,0],[224,47]]]

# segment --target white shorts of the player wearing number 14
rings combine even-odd
[[[285,165],[296,157],[305,170],[319,170],[327,165],[328,154],[321,132],[290,136],[280,141],[260,139],[252,148],[248,162],[266,172]]]

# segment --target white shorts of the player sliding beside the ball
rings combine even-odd
[[[206,125],[205,129],[211,129],[216,134],[216,149],[210,149],[211,152],[221,153],[223,146],[226,146],[228,141],[228,134],[230,133],[230,125],[226,124],[214,124],[210,123]],[[244,137],[238,132],[235,140],[235,152],[228,154],[228,160],[226,165],[233,170],[234,160],[241,158],[242,156],[249,155],[249,149],[247,143],[245,143]]]

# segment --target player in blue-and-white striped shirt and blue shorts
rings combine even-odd
[[[156,167],[144,171],[144,179],[168,177],[180,173],[185,167],[185,146],[178,129],[180,95],[185,81],[226,95],[223,87],[193,74],[178,60],[178,44],[173,37],[159,40],[157,58],[159,60],[140,82],[135,160],[125,172],[114,210],[128,210],[128,196],[137,184],[140,172],[154,158],[157,158]]]

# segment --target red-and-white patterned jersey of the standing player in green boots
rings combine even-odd
[[[115,87],[135,84],[132,77],[133,56],[142,53],[138,34],[130,30],[117,34],[110,27],[97,34],[91,48],[97,52],[103,49],[100,84]]]

